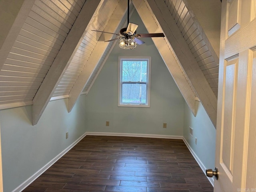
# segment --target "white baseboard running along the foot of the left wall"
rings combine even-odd
[[[74,147],[82,138],[86,136],[84,133],[80,138],[78,138],[75,142],[73,142],[68,148],[64,149],[60,154],[58,154],[55,158],[53,158],[50,162],[48,162],[45,166],[43,166],[40,170],[38,170],[35,174],[33,174],[30,178],[24,181],[20,186],[15,188],[12,192],[21,192],[27,186],[29,186],[34,180],[36,180],[40,175],[42,175],[50,166],[52,166],[56,161],[58,161],[64,154],[66,154],[72,147]]]

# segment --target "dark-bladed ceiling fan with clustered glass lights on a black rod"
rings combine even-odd
[[[120,48],[123,48],[123,49],[134,49],[134,48],[136,48],[137,44],[139,44],[139,45],[144,44],[145,43],[144,41],[138,39],[141,37],[142,38],[143,37],[164,37],[163,33],[136,34],[136,29],[138,28],[138,25],[129,22],[129,6],[130,6],[130,2],[128,0],[128,10],[127,10],[128,25],[126,28],[122,28],[120,30],[120,34],[98,31],[98,30],[92,30],[92,31],[109,33],[109,34],[114,34],[114,35],[119,36],[118,38],[107,40],[105,42],[110,42],[110,41],[115,41],[115,40],[121,39],[119,42],[119,46],[120,46]]]

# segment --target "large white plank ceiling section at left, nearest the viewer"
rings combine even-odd
[[[81,0],[79,4],[72,2],[24,1],[12,26],[15,30],[10,30],[4,51],[0,52],[0,92],[5,92],[1,93],[1,104],[27,103],[28,99],[32,102],[39,86],[33,90],[26,88],[23,92],[20,88],[34,82],[41,85],[45,79],[81,10]],[[6,87],[16,88],[16,92],[5,91]]]

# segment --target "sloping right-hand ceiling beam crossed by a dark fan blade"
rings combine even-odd
[[[142,0],[133,0],[134,7],[136,8],[142,22],[144,23],[146,29],[149,33],[161,33],[162,29],[158,27],[156,21],[152,17],[151,10],[148,9],[146,3]],[[152,38],[158,52],[162,56],[172,78],[176,82],[182,96],[184,97],[186,103],[188,104],[191,112],[196,116],[197,112],[197,101],[196,96],[192,89],[190,88],[185,76],[182,74],[178,61],[176,61],[173,53],[171,52],[168,44],[164,38]]]

